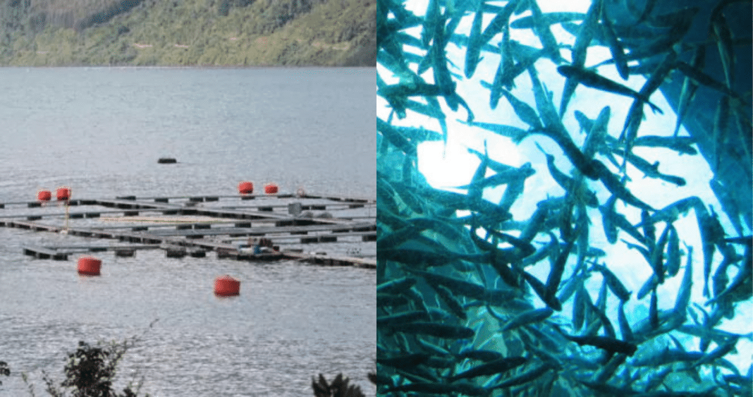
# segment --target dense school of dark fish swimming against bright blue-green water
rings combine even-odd
[[[730,84],[735,51],[750,51],[750,39],[741,45],[724,23],[739,3],[749,1],[718,0],[706,15],[690,7],[659,14],[655,0],[594,0],[585,13],[545,13],[536,0],[428,0],[418,16],[398,0],[378,1],[377,62],[389,78],[378,75],[377,96],[389,117],[377,117],[377,395],[753,395],[753,364],[741,371],[729,359],[739,341],[753,339],[753,329],[720,328],[753,300],[750,221],[738,218],[725,229],[700,197],[659,207],[626,186],[642,178],[660,179],[668,188],[686,184],[634,151],[697,155],[694,140],[678,130],[698,86],[723,97],[718,128],[734,119],[751,130],[739,111],[751,107],[749,93]],[[617,6],[632,20],[612,17]],[[456,32],[469,18],[469,34]],[[708,21],[708,40],[685,41],[697,18]],[[557,24],[575,44],[559,44],[552,32]],[[416,29],[419,34],[408,32]],[[541,46],[514,40],[514,29],[532,32]],[[450,43],[465,48],[465,64],[450,62]],[[608,47],[611,60],[588,66],[587,51],[596,45]],[[725,81],[704,72],[703,52],[712,50],[723,61]],[[499,64],[493,75],[482,76],[478,92],[489,96],[491,109],[508,102],[527,127],[477,120],[456,91],[458,82],[482,70],[477,66],[487,53]],[[553,63],[564,79],[559,103],[541,82],[541,62]],[[633,90],[604,77],[599,70],[605,68],[623,80],[644,75],[645,84]],[[677,127],[644,133],[646,106],[657,114],[671,110],[651,101],[668,78],[684,81]],[[517,95],[525,80],[531,104]],[[609,105],[599,105],[595,118],[571,108],[576,89],[631,99],[622,130],[608,129]],[[411,114],[431,118],[438,128],[401,126]],[[432,188],[417,169],[418,146],[447,145],[447,121],[456,114],[469,127],[517,144],[544,137],[572,169],[559,169],[555,154],[538,144],[545,169],[511,166],[492,159],[498,156],[486,147],[468,148],[480,163],[468,184],[456,188],[462,192]],[[568,114],[584,137],[565,127]],[[527,218],[514,218],[511,209],[526,200],[526,180],[536,173],[547,173],[564,194],[539,201]],[[499,187],[505,190],[498,202],[483,198]],[[598,192],[608,199],[599,200]],[[640,220],[630,221],[620,208]],[[696,231],[675,225],[689,217]],[[592,227],[593,218],[602,231]],[[687,245],[691,233],[700,234],[700,246]],[[650,269],[641,289],[630,291],[610,268],[607,247],[593,243],[596,234],[639,254],[644,263],[636,268]],[[534,271],[541,268],[547,271]],[[692,299],[694,272],[703,273],[703,301]],[[587,289],[594,280],[601,285],[596,294]],[[657,292],[670,281],[678,282],[676,295]],[[630,301],[644,303],[646,313],[626,313]]]

